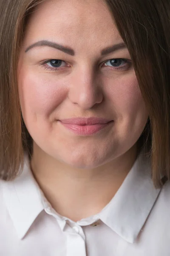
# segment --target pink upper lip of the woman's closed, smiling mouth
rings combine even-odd
[[[63,124],[73,124],[73,125],[97,125],[97,124],[106,124],[108,122],[111,122],[113,120],[111,119],[105,119],[105,118],[99,118],[99,117],[77,117],[77,118],[70,118],[70,119],[61,119],[59,120]]]

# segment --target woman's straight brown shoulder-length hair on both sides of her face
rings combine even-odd
[[[24,124],[17,66],[26,23],[44,0],[0,0],[0,178],[13,180],[23,169],[32,138]],[[156,188],[170,179],[170,1],[105,0],[127,44],[149,111],[138,140],[151,158]],[[20,166],[21,165],[21,166]],[[21,167],[21,169],[20,169]],[[161,180],[161,177],[165,177]]]

